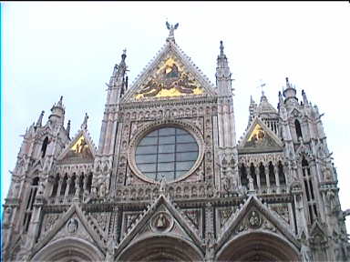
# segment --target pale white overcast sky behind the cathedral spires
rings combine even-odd
[[[2,2],[3,159],[7,195],[26,127],[63,96],[71,137],[88,113],[98,146],[113,67],[127,49],[129,84],[165,44],[165,22],[179,23],[176,43],[215,83],[223,41],[234,87],[238,140],[251,96],[273,106],[285,77],[317,105],[333,152],[343,210],[350,208],[346,150],[350,4],[344,2]],[[346,221],[350,233],[350,217]]]

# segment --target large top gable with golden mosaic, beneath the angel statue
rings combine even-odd
[[[122,98],[124,102],[215,95],[214,86],[180,47],[169,41]]]

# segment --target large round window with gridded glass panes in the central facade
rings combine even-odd
[[[189,172],[198,158],[198,144],[179,127],[162,127],[144,136],[136,147],[136,166],[141,173],[160,181],[173,181]]]

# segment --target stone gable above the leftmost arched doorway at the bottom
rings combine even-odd
[[[84,216],[83,211],[78,207],[77,203],[73,203],[66,214],[57,219],[52,229],[36,244],[33,249],[33,254],[36,254],[37,251],[45,247],[47,243],[52,241],[62,230],[64,230],[62,237],[67,237],[67,234],[75,234],[77,230],[80,230],[80,232],[85,231],[88,233],[85,235],[88,235],[88,237],[95,242],[94,244],[103,252],[104,247],[101,246],[101,242],[106,242],[106,239],[104,239],[102,234],[94,231],[92,227],[90,227],[88,219]],[[77,231],[77,233],[79,233],[79,231]],[[78,237],[80,234],[76,235]]]

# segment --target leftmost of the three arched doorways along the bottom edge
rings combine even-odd
[[[81,262],[102,261],[104,256],[98,247],[74,237],[58,239],[39,250],[31,261]]]

